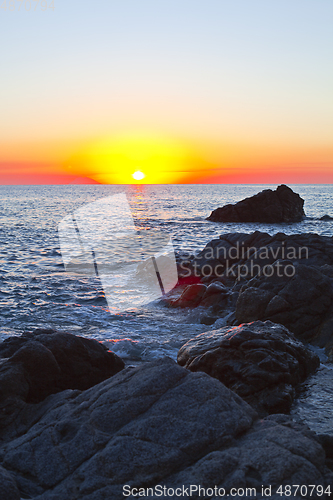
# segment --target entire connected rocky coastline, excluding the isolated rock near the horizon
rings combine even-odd
[[[210,327],[177,362],[55,330],[0,344],[0,499],[333,497],[333,436],[290,416],[311,345],[333,362],[333,238],[223,234],[177,265],[161,304]]]

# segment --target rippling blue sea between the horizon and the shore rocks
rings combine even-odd
[[[290,187],[305,200],[302,222],[236,224],[206,218],[217,207],[276,185],[0,186],[0,340],[54,328],[103,342],[126,364],[176,359],[185,342],[223,322],[201,324],[200,308],[170,309],[159,298],[111,314],[100,278],[65,268],[59,224],[89,203],[123,193],[135,228],[166,233],[178,253],[194,254],[231,232],[333,236],[333,221],[319,220],[333,216],[333,185]],[[321,367],[301,387],[292,414],[316,432],[333,435],[333,365],[318,354]]]

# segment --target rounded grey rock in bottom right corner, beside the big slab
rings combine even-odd
[[[308,468],[306,463],[310,461],[311,464],[315,464],[322,460],[321,446],[317,442],[312,446],[313,440],[316,441],[313,433],[305,426],[293,422],[290,417],[270,415],[257,421],[235,445],[210,453],[194,464],[190,470],[186,469],[177,475],[177,482],[173,487],[180,487],[182,483],[200,484],[204,488],[217,485],[218,488],[225,488],[225,496],[230,497],[235,495],[235,490],[232,488],[243,488],[240,495],[234,497],[237,499],[244,498],[246,488],[254,488],[255,492],[254,490],[251,492],[252,498],[269,497],[273,500],[288,498],[288,495],[281,494],[281,491],[288,491],[288,488],[284,490],[285,485],[310,484],[304,480],[312,476],[314,484],[321,486],[315,478],[315,469],[318,466]],[[264,449],[267,451],[266,456],[263,453]],[[306,453],[307,449],[309,455]],[[296,458],[298,452],[300,455]],[[326,485],[331,481],[331,472],[326,469],[324,477],[323,484],[327,488]],[[283,485],[280,493],[276,493],[280,485]],[[262,487],[265,490],[268,488],[266,495],[262,495]],[[293,490],[293,498],[301,499],[302,496],[295,490],[296,488]],[[319,489],[320,491],[322,490]],[[247,495],[249,494],[248,490]],[[319,494],[317,498],[320,497]],[[211,497],[207,495],[205,498]],[[221,496],[213,498],[217,500]]]

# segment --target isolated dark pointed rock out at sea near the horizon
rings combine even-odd
[[[304,200],[282,184],[275,191],[260,193],[214,210],[207,220],[213,222],[299,222],[304,216]]]

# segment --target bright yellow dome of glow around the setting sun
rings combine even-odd
[[[194,147],[154,135],[117,136],[85,145],[68,158],[71,174],[102,184],[182,183],[202,165]],[[138,166],[140,166],[138,168]]]

